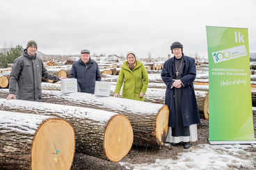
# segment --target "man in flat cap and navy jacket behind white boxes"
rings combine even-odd
[[[77,78],[79,92],[94,94],[95,81],[102,78],[97,62],[90,59],[90,51],[87,49],[81,51],[80,59],[72,65],[70,78]]]

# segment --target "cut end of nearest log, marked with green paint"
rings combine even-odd
[[[70,169],[74,130],[62,119],[48,119],[38,129],[31,148],[31,169]]]

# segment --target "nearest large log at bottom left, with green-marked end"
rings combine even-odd
[[[0,169],[70,169],[74,130],[63,119],[0,111]]]

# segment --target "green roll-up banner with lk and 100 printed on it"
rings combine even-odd
[[[248,28],[206,26],[209,142],[255,143]]]

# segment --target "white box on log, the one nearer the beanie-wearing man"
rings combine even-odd
[[[61,80],[61,92],[63,94],[77,92],[77,78],[68,78]]]

